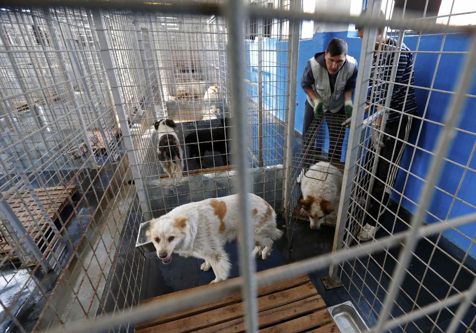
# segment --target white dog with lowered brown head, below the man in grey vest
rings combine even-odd
[[[312,165],[301,180],[302,205],[311,229],[319,229],[326,216],[335,218],[342,187],[342,172],[329,162]]]

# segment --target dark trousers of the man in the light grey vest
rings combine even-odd
[[[344,142],[344,137],[346,134],[345,128],[341,124],[346,120],[346,114],[344,112],[344,106],[336,113],[331,113],[329,111],[324,113],[324,119],[327,123],[327,129],[329,131],[329,160],[332,162],[339,163],[342,155],[342,143]],[[315,144],[319,147],[324,146],[325,133],[316,133],[318,130],[320,122],[313,122],[314,120],[314,109],[307,102],[304,109],[304,124],[302,125],[302,142],[304,147],[309,145],[309,154],[319,155],[322,153],[322,148],[316,149]],[[312,142],[312,137],[315,135],[315,142]],[[314,160],[314,159],[313,159]],[[306,159],[306,164],[312,164],[314,162]]]

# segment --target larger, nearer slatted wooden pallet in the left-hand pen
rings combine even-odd
[[[58,213],[68,203],[71,195],[76,192],[76,187],[74,185],[69,185],[67,187],[56,186],[39,188],[35,189],[35,192],[51,220],[55,221],[58,218]],[[50,238],[53,230],[29,190],[20,190],[20,194],[25,200],[25,204],[23,204],[16,192],[2,192],[4,199],[8,202],[16,216],[18,216],[18,219],[35,243],[38,244],[42,242],[42,235],[46,238]],[[48,194],[51,198],[48,197]],[[33,219],[28,211],[33,215]],[[1,222],[0,227],[2,227]],[[8,244],[7,240],[0,237],[0,259],[7,255],[11,249],[12,247]],[[13,256],[10,257],[10,259],[17,260],[18,258]]]

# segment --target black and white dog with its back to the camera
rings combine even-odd
[[[179,137],[175,133],[176,125],[171,119],[161,119],[154,124],[157,131],[157,154],[164,171],[169,178],[182,177],[183,153]]]

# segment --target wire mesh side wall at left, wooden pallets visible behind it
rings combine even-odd
[[[84,8],[0,11],[4,332],[138,302],[143,257],[131,249],[142,210],[99,34]]]

